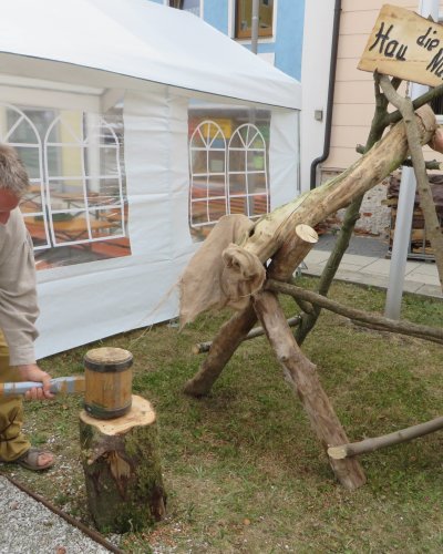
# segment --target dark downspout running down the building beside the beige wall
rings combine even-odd
[[[326,107],[323,153],[311,163],[310,189],[316,188],[317,166],[329,156],[332,131],[333,92],[336,89],[337,52],[339,48],[341,0],[336,0],[332,23],[331,61],[329,66],[328,103]]]

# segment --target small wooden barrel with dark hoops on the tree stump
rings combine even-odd
[[[131,410],[132,361],[132,353],[123,348],[86,352],[84,409],[92,418],[120,418]]]

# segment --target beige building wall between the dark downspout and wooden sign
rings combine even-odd
[[[356,145],[364,144],[367,140],[374,106],[373,81],[372,74],[359,71],[357,64],[383,3],[387,0],[342,1],[331,148],[322,164],[322,173],[351,165],[359,157]],[[419,0],[392,0],[389,3],[418,11]],[[430,151],[429,157],[436,156]]]

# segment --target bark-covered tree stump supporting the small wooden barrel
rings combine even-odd
[[[166,494],[151,403],[132,397],[128,413],[112,420],[80,413],[87,502],[100,531],[135,531],[165,515]]]

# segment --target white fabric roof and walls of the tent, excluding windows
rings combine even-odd
[[[189,99],[269,110],[271,208],[298,193],[300,84],[192,14],[147,0],[13,0],[0,62],[3,105],[100,114],[123,99],[131,255],[38,271],[39,357],[177,315],[174,285],[198,246]]]

